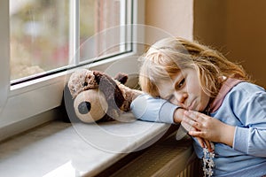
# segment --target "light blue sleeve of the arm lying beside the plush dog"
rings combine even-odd
[[[178,106],[167,100],[143,94],[133,100],[130,108],[137,119],[173,124],[174,112]]]

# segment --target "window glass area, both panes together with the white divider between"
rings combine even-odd
[[[128,51],[127,5],[126,0],[10,0],[11,82]]]

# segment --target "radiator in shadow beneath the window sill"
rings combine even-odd
[[[141,156],[124,165],[112,177],[188,177],[202,176],[200,161],[192,149],[192,140],[176,141],[175,135],[153,145]]]

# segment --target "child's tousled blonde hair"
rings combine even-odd
[[[184,68],[197,71],[200,85],[207,96],[215,97],[223,84],[223,77],[249,81],[241,65],[224,58],[221,53],[199,42],[182,38],[165,38],[155,42],[141,57],[139,83],[146,93],[160,96],[157,85],[172,79]]]

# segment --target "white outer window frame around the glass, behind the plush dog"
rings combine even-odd
[[[71,2],[74,1],[75,0],[71,0]],[[137,45],[137,43],[144,43],[142,40],[145,39],[145,31],[142,27],[138,27],[138,24],[144,24],[145,1],[132,0],[132,2],[132,24],[135,24],[130,27],[130,29],[132,29],[132,51],[115,58],[107,58],[90,65],[83,65],[82,67],[89,67],[90,69],[94,70],[105,70],[105,68],[107,68],[109,65],[112,65],[114,62],[120,61],[118,62],[118,65],[113,68],[113,71],[110,71],[111,73],[119,72],[117,70],[119,68],[125,70],[123,72],[137,72],[137,57],[134,56],[139,56],[139,54],[143,51],[143,47]],[[67,80],[67,75],[79,68],[10,86],[9,0],[1,1],[0,22],[1,141],[9,136],[16,135],[21,131],[25,131],[31,127],[38,126],[44,122],[54,119],[52,112],[54,108],[61,104],[63,88]],[[76,45],[76,43],[74,45]],[[127,65],[128,62],[129,65]],[[59,117],[60,115],[56,116]]]

